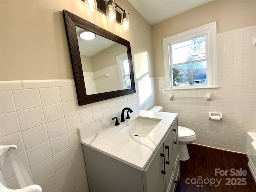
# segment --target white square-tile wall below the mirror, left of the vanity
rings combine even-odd
[[[153,106],[152,96],[148,104],[140,104],[138,81],[148,83],[136,80],[135,94],[85,106],[78,106],[74,80],[2,81],[0,144],[18,146],[25,168],[44,192],[88,192],[78,128],[126,106]],[[3,173],[9,188],[19,187],[9,158],[4,162]]]

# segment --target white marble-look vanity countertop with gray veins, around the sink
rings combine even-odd
[[[120,122],[119,126],[112,124],[99,129],[98,132],[90,136],[83,133],[86,129],[84,126],[79,128],[81,143],[143,171],[176,119],[177,114],[141,110],[131,113],[128,123],[137,116],[157,118],[161,121],[145,138],[116,131],[126,122]],[[97,123],[91,125],[91,127],[93,126],[97,126]]]

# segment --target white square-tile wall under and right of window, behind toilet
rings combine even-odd
[[[256,132],[256,26],[217,35],[219,88],[166,91],[164,78],[156,78],[157,105],[177,112],[179,125],[196,132],[195,143],[245,152],[246,133]],[[169,95],[200,96],[212,93],[212,101],[169,100]],[[222,121],[208,119],[208,112],[222,112]]]

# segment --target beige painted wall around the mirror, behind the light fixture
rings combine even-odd
[[[107,24],[100,12],[86,12],[81,0],[1,0],[0,80],[73,78],[63,9],[130,41],[133,55],[148,52],[151,69],[150,24],[128,1],[116,2],[130,13],[130,32],[122,32],[119,24]]]

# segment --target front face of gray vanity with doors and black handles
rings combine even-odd
[[[173,192],[179,178],[178,120],[143,171],[146,192]]]

